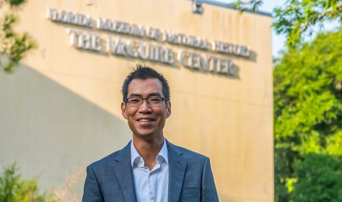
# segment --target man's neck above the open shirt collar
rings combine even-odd
[[[144,140],[133,135],[133,144],[137,153],[144,159],[145,166],[150,170],[157,164],[157,155],[163,147],[164,136],[153,140]]]

